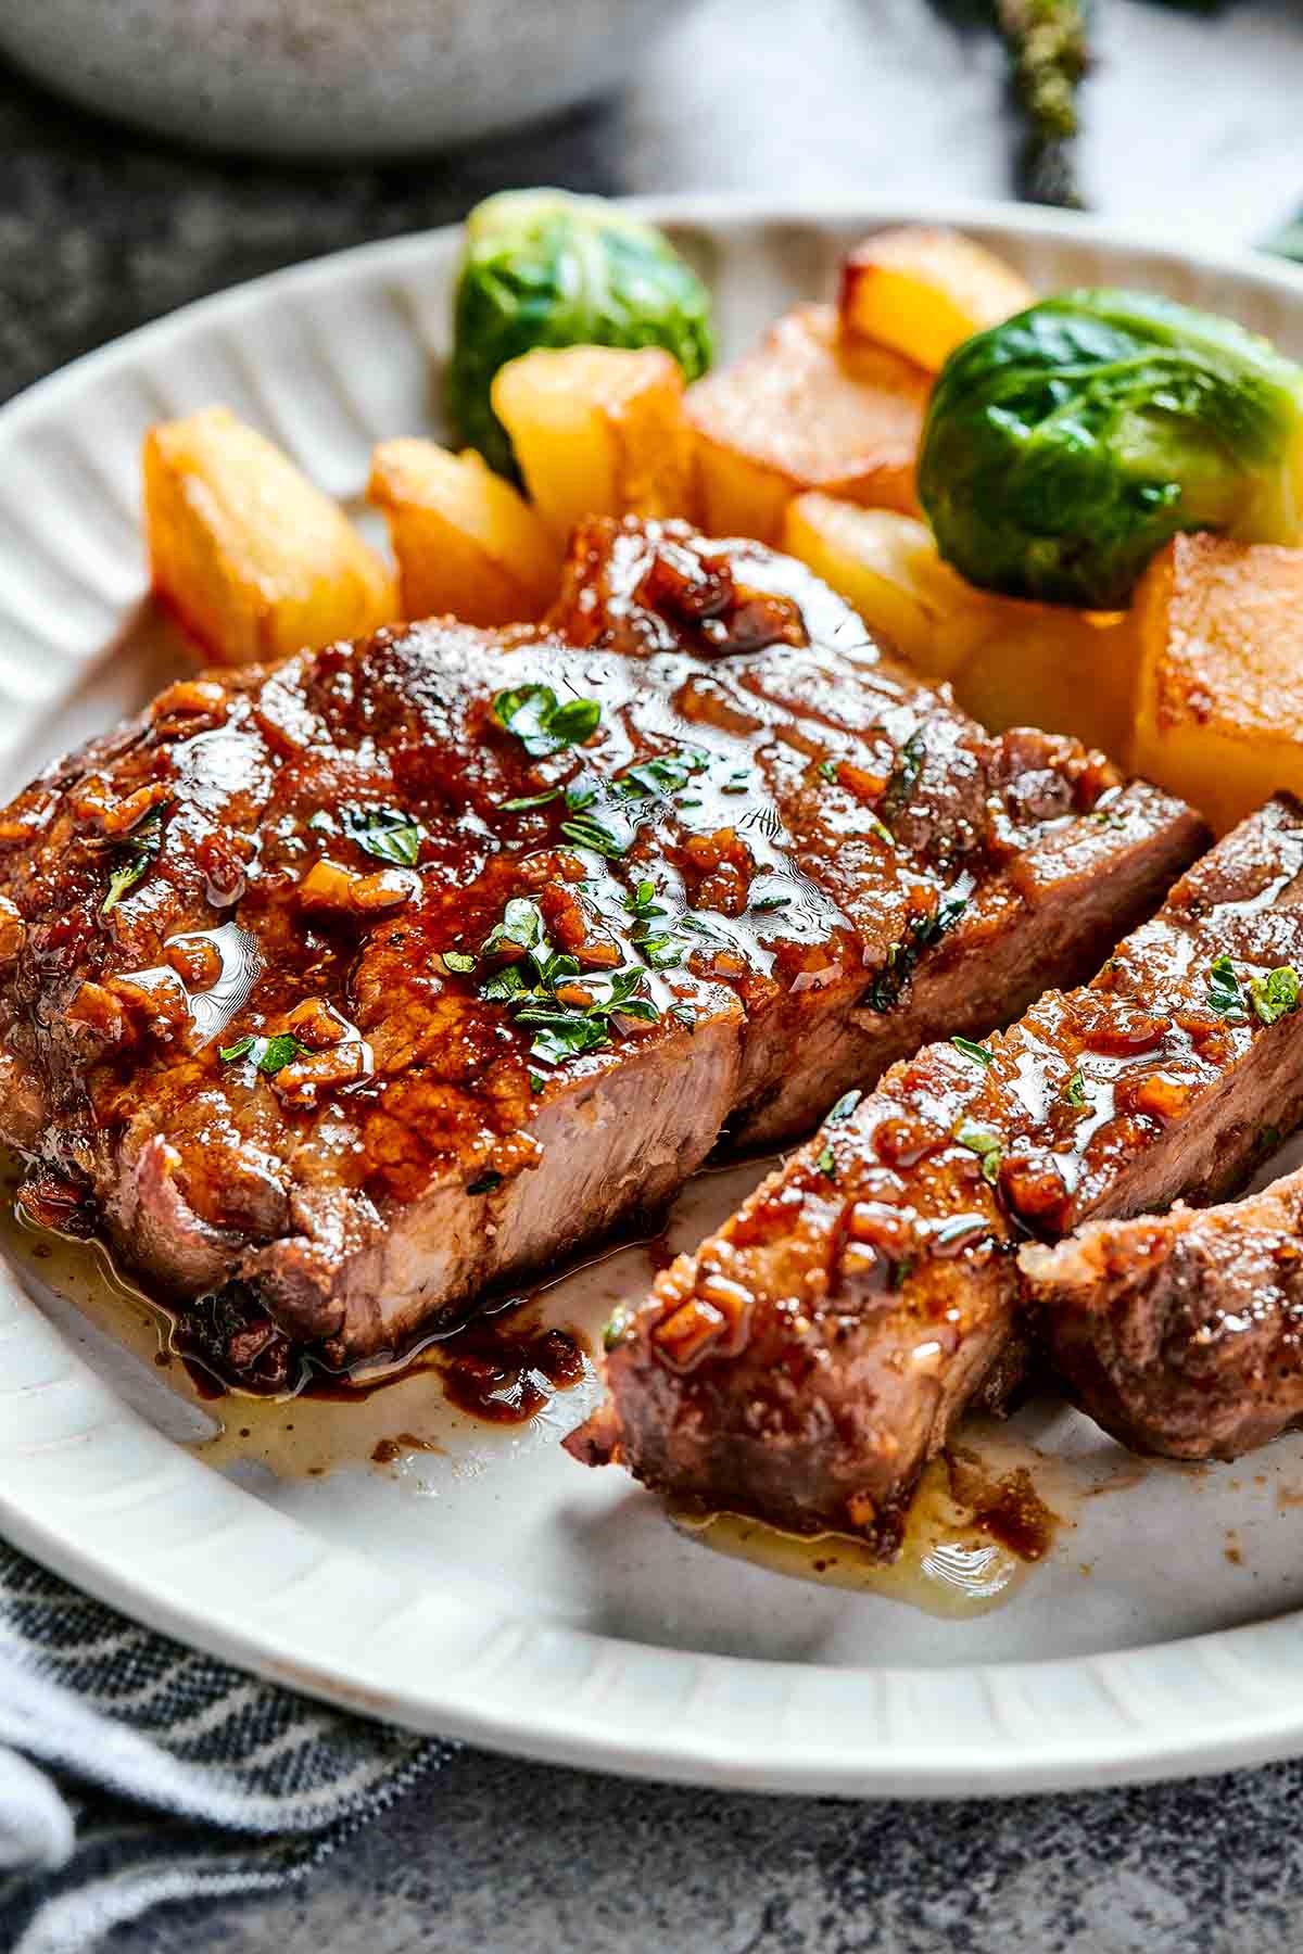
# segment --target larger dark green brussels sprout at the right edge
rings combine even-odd
[[[942,367],[918,498],[969,582],[1119,608],[1178,530],[1297,539],[1303,369],[1166,299],[1045,299]]]

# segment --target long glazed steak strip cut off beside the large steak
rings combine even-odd
[[[1018,1370],[1016,1249],[1225,1190],[1303,1110],[1303,809],[1268,803],[1084,991],[893,1067],[613,1327],[570,1440],[651,1487],[891,1551],[922,1464]],[[1289,979],[1278,979],[1280,985]]]

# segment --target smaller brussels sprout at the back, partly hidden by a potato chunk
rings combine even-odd
[[[488,387],[535,346],[662,346],[697,379],[711,363],[711,299],[670,242],[617,205],[506,190],[467,219],[445,379],[459,440],[500,475],[516,477],[516,461]]]

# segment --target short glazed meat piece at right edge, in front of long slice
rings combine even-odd
[[[1233,1460],[1303,1417],[1303,1172],[1020,1262],[1051,1362],[1133,1452]]]

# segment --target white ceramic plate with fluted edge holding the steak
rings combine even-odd
[[[1303,277],[1268,260],[1006,207],[651,213],[709,276],[725,352],[828,289],[860,233],[922,215],[987,236],[1041,287],[1168,291],[1303,354]],[[6,797],[176,668],[141,602],[145,426],[225,401],[356,496],[371,442],[434,426],[455,248],[434,233],[264,279],[0,414]],[[680,1243],[744,1184],[699,1178]],[[1047,1454],[1037,1473],[1072,1524],[1008,1606],[940,1620],[709,1553],[625,1475],[574,1466],[557,1436],[592,1380],[524,1428],[453,1415],[418,1374],[357,1407],[231,1401],[219,1436],[148,1362],[143,1307],[92,1297],[31,1249],[14,1237],[0,1264],[0,1526],[105,1600],[303,1690],[533,1757],[764,1790],[1014,1792],[1303,1749],[1303,1438],[1237,1467],[1145,1467],[1031,1405],[1014,1442]],[[647,1274],[625,1251],[547,1309],[594,1329]],[[397,1456],[375,1466],[383,1440]]]

